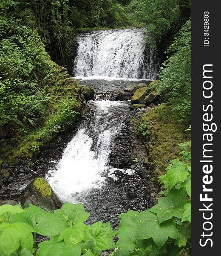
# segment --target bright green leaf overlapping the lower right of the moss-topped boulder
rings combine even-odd
[[[90,213],[85,212],[85,208],[82,204],[71,204],[71,203],[64,203],[61,207],[61,213],[64,216],[68,216],[68,219],[71,222],[85,222]]]

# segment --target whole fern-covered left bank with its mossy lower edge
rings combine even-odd
[[[77,82],[45,51],[35,18],[23,2],[0,2],[0,163],[31,157],[85,104]]]

